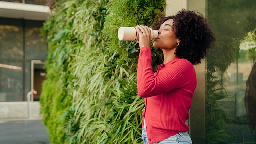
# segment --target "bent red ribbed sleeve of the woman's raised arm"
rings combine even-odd
[[[167,64],[159,65],[156,73],[153,73],[151,61],[150,49],[141,48],[137,69],[138,95],[141,97],[155,96],[182,88],[190,82],[194,74],[189,73],[194,68],[186,59],[176,58]]]

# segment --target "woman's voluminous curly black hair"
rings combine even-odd
[[[173,19],[173,32],[180,40],[175,51],[176,56],[189,60],[193,65],[200,64],[215,42],[207,20],[197,11],[182,9],[174,16],[162,16],[153,24],[153,29],[158,30],[168,19]]]

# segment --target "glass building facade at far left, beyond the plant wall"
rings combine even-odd
[[[32,88],[31,75],[43,70],[38,64],[31,70],[32,61],[46,60],[42,24],[43,21],[0,18],[0,101],[26,100],[26,93]],[[41,75],[45,76],[44,72]]]

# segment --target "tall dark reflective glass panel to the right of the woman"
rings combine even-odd
[[[208,0],[216,36],[207,58],[208,144],[256,143],[255,7],[255,0]]]

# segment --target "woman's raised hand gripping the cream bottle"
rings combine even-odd
[[[137,32],[139,33],[139,43],[140,48],[148,47],[150,48],[151,34],[150,29],[147,26],[138,25],[136,27]]]

